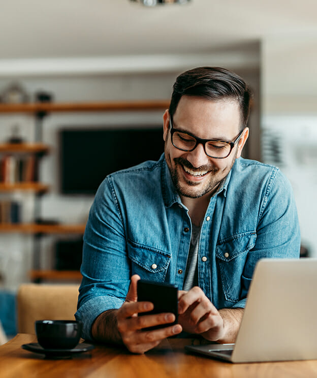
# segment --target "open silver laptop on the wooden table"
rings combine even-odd
[[[230,362],[317,359],[317,259],[257,263],[235,344],[187,345]]]

